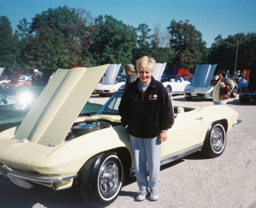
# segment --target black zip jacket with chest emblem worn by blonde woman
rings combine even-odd
[[[156,137],[174,124],[170,97],[163,84],[152,77],[143,101],[138,82],[139,78],[129,84],[122,96],[118,108],[122,126],[129,125],[126,130],[134,137]]]

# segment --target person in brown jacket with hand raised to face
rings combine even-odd
[[[212,99],[214,105],[225,105],[230,97],[230,92],[232,90],[232,84],[230,79],[226,78],[226,73],[224,70],[218,71],[218,78],[215,77],[210,84],[214,86],[212,92]]]

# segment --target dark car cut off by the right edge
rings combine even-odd
[[[244,83],[244,85],[241,87],[239,92],[240,103],[248,104],[250,100],[256,100],[256,71],[250,71],[249,82],[241,83]]]

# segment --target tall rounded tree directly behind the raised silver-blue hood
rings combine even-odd
[[[206,43],[202,40],[201,32],[189,24],[189,20],[184,23],[172,20],[167,29],[171,34],[170,46],[175,51],[173,66],[193,70],[196,64],[205,63],[208,53]]]

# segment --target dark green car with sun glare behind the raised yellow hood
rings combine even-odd
[[[19,126],[32,104],[44,87],[19,87],[0,89],[0,132]],[[101,104],[86,103],[76,122],[84,121],[86,116],[97,113]]]

